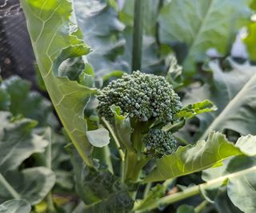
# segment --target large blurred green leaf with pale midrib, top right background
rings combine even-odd
[[[226,54],[241,22],[250,18],[250,0],[174,0],[159,15],[160,41],[186,45],[183,68],[194,72],[195,62],[206,59],[206,50]],[[184,48],[183,48],[184,49]],[[181,61],[181,60],[180,60]]]

